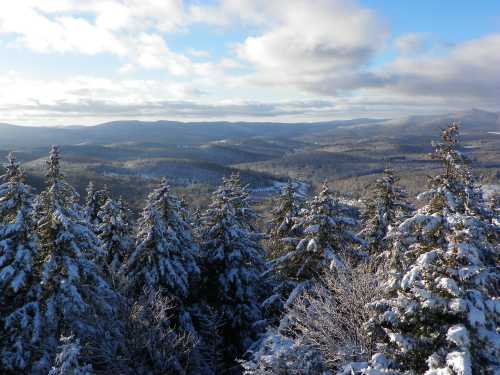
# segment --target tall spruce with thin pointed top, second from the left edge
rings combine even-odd
[[[59,338],[68,332],[97,346],[96,341],[104,339],[100,337],[102,327],[113,323],[119,301],[93,261],[102,250],[81,215],[77,193],[61,174],[57,146],[50,151],[47,169],[47,188],[40,194],[37,215],[41,275],[37,303],[44,351],[35,366],[37,371],[46,371]],[[112,341],[112,337],[106,340]]]

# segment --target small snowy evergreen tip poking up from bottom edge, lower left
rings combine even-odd
[[[49,375],[94,375],[92,365],[82,364],[80,340],[74,336],[61,337],[55,366]]]

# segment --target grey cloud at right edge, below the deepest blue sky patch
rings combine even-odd
[[[404,96],[467,98],[484,106],[500,98],[500,34],[457,44],[445,56],[400,57],[377,72],[380,87]]]

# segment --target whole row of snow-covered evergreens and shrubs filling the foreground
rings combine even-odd
[[[409,203],[386,169],[356,209],[290,182],[267,233],[239,176],[205,210],[127,203],[60,171],[0,185],[2,374],[495,374],[500,372],[498,197],[483,198],[458,127],[442,171]]]

